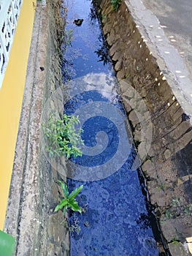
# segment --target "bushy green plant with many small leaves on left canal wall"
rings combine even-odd
[[[67,116],[64,114],[63,118],[57,119],[50,115],[48,121],[42,124],[42,128],[47,140],[46,151],[50,157],[66,156],[81,157],[82,151],[80,146],[83,145],[81,139],[82,129],[75,129],[75,125],[79,124],[78,116]]]

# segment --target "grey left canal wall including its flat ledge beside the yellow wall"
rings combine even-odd
[[[59,113],[64,97],[55,50],[57,7],[53,1],[37,3],[4,230],[16,238],[15,255],[63,256],[69,255],[69,230],[61,211],[53,210],[61,195],[58,178],[65,180],[66,166],[64,159],[51,160],[45,154],[41,131],[43,113]]]

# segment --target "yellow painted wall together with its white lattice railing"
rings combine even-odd
[[[35,3],[0,2],[0,230],[7,210]]]

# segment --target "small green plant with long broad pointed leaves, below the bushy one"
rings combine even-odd
[[[69,190],[66,184],[64,184],[62,181],[58,181],[58,182],[61,185],[61,189],[63,189],[64,198],[61,200],[60,203],[58,203],[54,211],[63,209],[63,212],[65,214],[67,208],[72,208],[72,211],[79,211],[81,214],[82,208],[78,206],[77,200],[74,197],[76,197],[81,192],[83,185],[81,185],[80,187],[77,187],[69,194]]]

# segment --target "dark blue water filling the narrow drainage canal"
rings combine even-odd
[[[67,1],[66,114],[79,116],[82,157],[70,160],[69,191],[83,184],[82,215],[69,217],[72,256],[159,255],[118,83],[91,1]],[[77,20],[83,19],[83,20]],[[74,23],[74,20],[78,22]],[[81,24],[80,24],[81,23]]]

